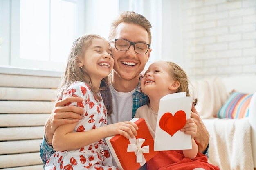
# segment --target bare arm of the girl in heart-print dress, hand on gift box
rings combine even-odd
[[[133,122],[119,122],[85,132],[73,132],[76,124],[59,126],[53,136],[53,148],[56,151],[75,150],[92,144],[108,136],[123,135],[127,139],[137,135],[138,126]]]

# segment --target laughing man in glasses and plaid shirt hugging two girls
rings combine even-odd
[[[150,57],[151,24],[142,15],[126,11],[120,13],[110,28],[109,40],[114,59],[114,68],[110,75],[110,86],[113,96],[113,114],[108,124],[129,121],[133,118],[138,107],[148,100],[141,92],[140,73],[144,70]],[[45,124],[45,137],[40,146],[40,154],[45,164],[54,153],[52,137],[55,129],[68,123],[76,123],[82,118],[83,110],[69,102],[79,102],[81,98],[70,97],[56,102],[55,107]],[[192,104],[191,104],[192,105]],[[209,133],[206,130],[195,107],[192,107],[191,118],[197,125],[195,140],[199,152],[208,154]],[[186,126],[182,129],[186,133]]]

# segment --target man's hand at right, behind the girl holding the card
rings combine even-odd
[[[194,105],[192,105],[191,109],[191,118],[193,119],[197,126],[197,131],[194,139],[198,143],[198,152],[204,153],[207,148],[207,145],[209,144],[210,135],[204,125],[204,122],[202,121],[198,112],[196,111]],[[180,131],[185,131],[185,129],[183,128]]]

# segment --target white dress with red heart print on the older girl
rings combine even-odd
[[[98,94],[101,98],[101,94]],[[83,82],[73,83],[63,95],[79,96],[83,102],[70,103],[85,110],[84,118],[79,120],[74,132],[89,131],[107,125],[107,110],[103,101],[98,101]],[[74,139],[75,140],[75,139]],[[83,148],[69,151],[56,151],[47,161],[45,170],[116,170],[112,166],[112,156],[104,139]]]

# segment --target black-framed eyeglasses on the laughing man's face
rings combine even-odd
[[[134,42],[130,42],[126,39],[118,39],[116,38],[115,40],[113,39],[110,42],[115,42],[115,48],[119,51],[127,51],[131,45],[134,46],[134,51],[137,54],[146,54],[148,52],[148,49],[150,47],[149,44],[146,43],[134,43]]]

